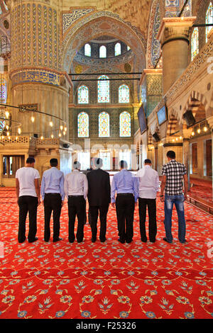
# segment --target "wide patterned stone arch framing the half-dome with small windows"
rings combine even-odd
[[[111,35],[131,47],[140,57],[141,69],[146,67],[146,40],[137,28],[121,20],[118,15],[110,12],[94,12],[77,21],[75,26],[67,29],[60,49],[62,71],[69,72],[75,54],[89,40],[101,35]]]

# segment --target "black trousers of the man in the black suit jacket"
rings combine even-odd
[[[97,219],[99,216],[100,219],[100,233],[99,239],[101,242],[105,242],[106,240],[106,232],[107,232],[107,213],[109,210],[109,204],[107,205],[90,205],[89,213],[90,213],[90,226],[92,230],[92,240],[97,239]]]

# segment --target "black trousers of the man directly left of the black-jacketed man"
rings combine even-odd
[[[77,215],[77,242],[82,242],[84,238],[84,218],[85,218],[85,199],[84,196],[68,197],[68,215],[69,215],[69,242],[75,241],[75,218]]]

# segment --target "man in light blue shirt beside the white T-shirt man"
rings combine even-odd
[[[58,159],[50,159],[51,168],[44,171],[40,193],[45,211],[45,242],[50,239],[50,217],[53,211],[53,242],[61,240],[60,213],[65,200],[64,174],[57,169]]]

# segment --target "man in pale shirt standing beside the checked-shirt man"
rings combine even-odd
[[[148,206],[148,235],[150,242],[155,242],[157,235],[156,195],[159,188],[158,172],[151,167],[151,160],[145,159],[143,169],[137,172],[139,180],[138,203],[140,217],[141,241],[147,242],[146,237],[146,205]]]

